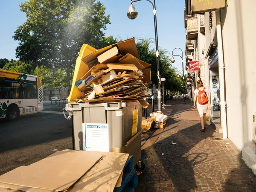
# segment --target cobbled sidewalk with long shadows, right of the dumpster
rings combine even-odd
[[[145,169],[136,192],[256,191],[256,176],[241,151],[231,140],[222,140],[209,123],[201,132],[190,100],[184,104],[183,99],[172,99],[166,105],[172,105],[169,126],[145,143]]]

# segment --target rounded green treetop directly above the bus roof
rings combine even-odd
[[[22,61],[13,61],[13,62],[10,61],[7,64],[5,64],[5,66],[3,67],[3,70],[13,71],[17,73],[26,73],[30,75],[35,74],[35,71],[32,65],[26,64],[25,62],[22,62]]]

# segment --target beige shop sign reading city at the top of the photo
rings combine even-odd
[[[226,6],[226,0],[191,0],[193,13],[204,13],[223,9]]]

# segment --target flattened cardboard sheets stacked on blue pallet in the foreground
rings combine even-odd
[[[121,186],[129,154],[57,151],[0,176],[1,192],[113,192]]]

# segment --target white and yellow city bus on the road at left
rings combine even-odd
[[[43,87],[37,76],[0,70],[0,119],[42,111]]]

